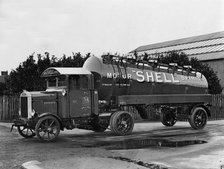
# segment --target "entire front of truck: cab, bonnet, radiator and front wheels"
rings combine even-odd
[[[64,128],[102,129],[97,125],[98,92],[91,72],[84,68],[51,67],[41,76],[46,81],[45,91],[24,90],[20,95],[20,118],[14,126],[22,136],[37,135],[41,140],[51,141]],[[41,134],[47,131],[42,126],[49,123],[52,136],[45,138]]]

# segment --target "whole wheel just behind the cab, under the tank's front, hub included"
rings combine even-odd
[[[128,135],[134,128],[132,114],[126,111],[119,111],[112,114],[110,118],[111,131],[117,135]]]

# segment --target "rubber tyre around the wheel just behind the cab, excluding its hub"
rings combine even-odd
[[[128,128],[127,131],[123,132],[123,131],[120,131],[118,129],[118,124],[117,124],[117,120],[120,118],[120,116],[123,116],[124,114],[126,114],[127,116],[129,116],[129,120],[130,120],[130,126]],[[110,118],[110,129],[111,131],[116,134],[116,135],[129,135],[131,134],[132,130],[134,128],[134,118],[132,116],[132,114],[130,112],[127,112],[127,111],[118,111],[118,112],[115,112],[111,115],[111,118]]]

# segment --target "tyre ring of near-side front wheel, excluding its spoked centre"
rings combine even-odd
[[[50,120],[54,120],[57,132],[56,132],[54,138],[51,138],[51,139],[44,139],[43,137],[41,137],[41,135],[40,135],[40,133],[39,133],[39,128],[40,128],[42,122],[44,122],[45,120],[49,120],[49,119],[50,119]],[[59,135],[59,133],[60,133],[60,123],[59,123],[58,119],[55,118],[55,117],[53,117],[53,116],[45,116],[45,117],[42,117],[42,118],[40,118],[40,119],[38,120],[38,122],[37,122],[37,124],[36,124],[36,126],[35,126],[35,133],[36,133],[36,135],[37,135],[37,138],[38,138],[40,141],[47,141],[47,142],[54,141],[54,140],[57,138],[57,136]]]

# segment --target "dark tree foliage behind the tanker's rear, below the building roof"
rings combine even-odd
[[[201,72],[208,81],[208,91],[210,94],[219,94],[222,92],[222,87],[219,83],[214,70],[208,65],[200,62],[197,58],[189,59],[183,52],[171,51],[165,56],[160,56],[159,60],[161,63],[177,63],[179,66],[191,65],[194,69]]]

